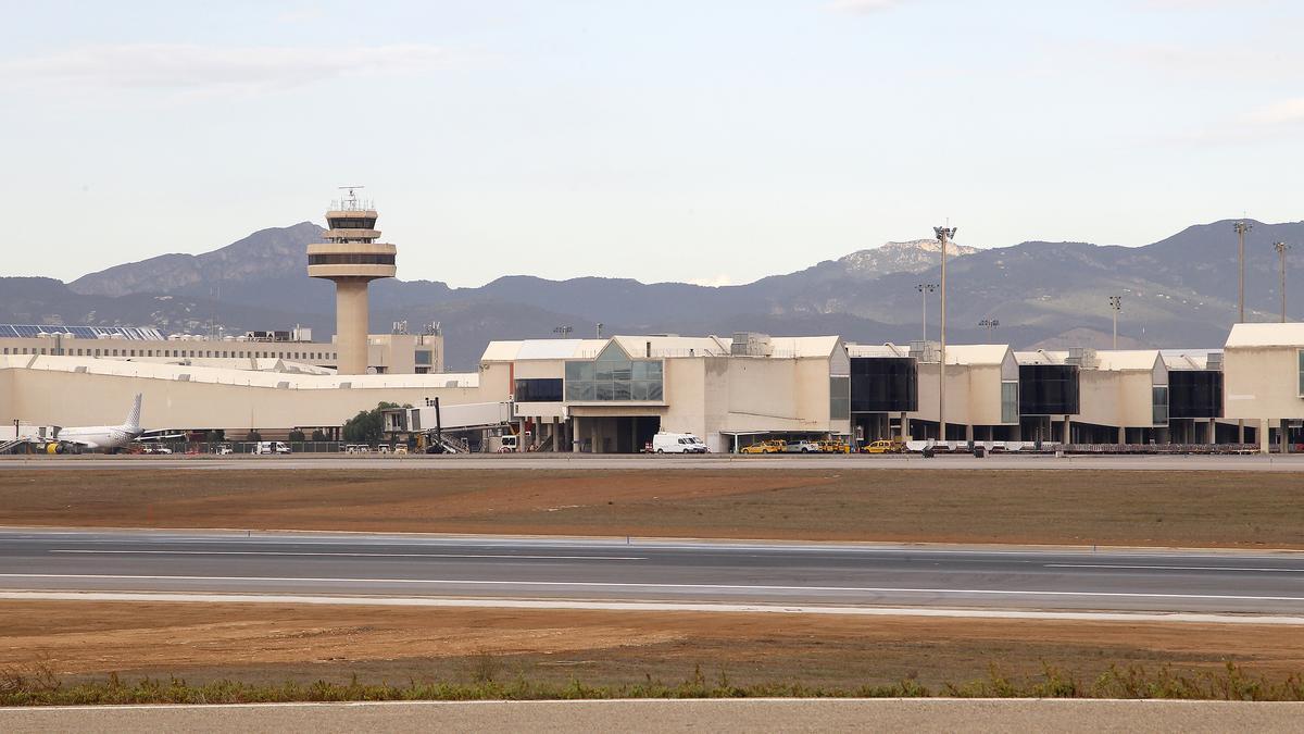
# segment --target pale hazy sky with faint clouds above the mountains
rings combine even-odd
[[[0,274],[322,221],[399,276],[747,282],[1304,218],[1297,0],[0,1]]]

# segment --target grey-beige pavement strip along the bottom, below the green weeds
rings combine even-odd
[[[1299,731],[1304,705],[1241,701],[741,699],[0,708],[46,731]]]

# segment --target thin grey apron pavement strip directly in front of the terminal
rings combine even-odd
[[[1003,469],[1003,470],[1138,470],[1138,471],[1304,471],[1304,455],[1258,456],[1114,456],[1073,455],[1056,458],[1050,455],[970,455],[923,458],[919,455],[593,455],[593,453],[520,453],[520,455],[454,455],[454,456],[374,456],[374,455],[310,455],[293,456],[9,456],[0,457],[0,471],[18,469],[528,469],[528,470],[738,470],[775,469]]]

